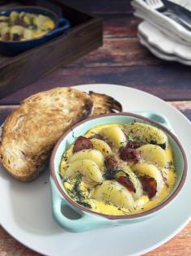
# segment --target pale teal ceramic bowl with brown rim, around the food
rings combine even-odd
[[[62,179],[59,176],[59,164],[62,154],[66,151],[68,145],[71,145],[76,137],[83,136],[88,130],[101,124],[122,123],[129,124],[134,120],[151,124],[160,128],[168,136],[172,145],[174,162],[176,167],[177,179],[172,193],[158,206],[140,214],[134,215],[103,215],[80,206],[74,202],[66,193],[62,185]],[[163,115],[151,111],[137,113],[119,113],[102,115],[85,119],[81,123],[74,125],[68,130],[55,145],[50,159],[50,183],[52,189],[53,217],[57,223],[70,232],[83,232],[93,228],[103,228],[114,225],[123,225],[135,223],[148,219],[156,215],[160,210],[168,210],[168,205],[180,193],[187,174],[187,160],[185,151],[180,145],[180,141],[174,135],[171,124]]]

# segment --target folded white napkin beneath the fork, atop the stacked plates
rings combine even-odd
[[[177,0],[173,0],[173,2],[175,1],[177,2]],[[190,2],[187,0],[179,0],[177,3],[180,4],[180,2],[182,6],[191,10]],[[158,28],[164,34],[168,35],[168,37],[171,37],[173,40],[190,46],[191,32],[180,24],[176,23],[175,20],[172,20],[168,16],[163,15],[163,13],[160,13],[159,11],[155,11],[143,0],[133,0],[131,4],[135,10],[134,15],[155,25],[156,28]]]

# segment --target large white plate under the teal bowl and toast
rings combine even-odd
[[[191,159],[191,125],[168,103],[149,93],[119,85],[80,85],[83,91],[107,93],[123,105],[124,111],[158,111],[166,115]],[[191,219],[191,173],[184,188],[168,210],[142,223],[70,233],[57,226],[51,215],[49,171],[23,184],[1,169],[0,221],[15,239],[41,254],[51,256],[129,256],[144,254],[168,241]],[[47,183],[45,183],[47,182]]]

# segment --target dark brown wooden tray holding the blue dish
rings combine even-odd
[[[33,4],[35,2],[38,0],[28,1]],[[102,45],[103,24],[100,18],[61,3],[60,7],[62,14],[72,23],[68,32],[15,57],[2,57],[1,60],[0,56],[0,98]]]

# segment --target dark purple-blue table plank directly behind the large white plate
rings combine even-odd
[[[0,104],[18,104],[32,93],[57,86],[116,84],[141,89],[166,101],[191,99],[190,67],[180,64],[142,67],[60,68],[36,83],[2,98]],[[99,92],[99,87],[97,89]]]

